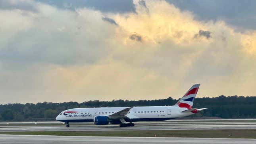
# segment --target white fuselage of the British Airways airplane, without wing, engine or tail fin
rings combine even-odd
[[[101,107],[101,108],[74,108],[62,111],[56,120],[69,122],[93,122],[93,118],[99,115],[112,115],[118,111],[121,111],[129,107]],[[127,118],[130,121],[164,121],[168,119],[174,119],[178,117],[185,117],[194,113],[184,113],[181,111],[186,108],[179,108],[177,106],[145,106],[145,107],[133,107],[127,113]],[[125,121],[127,121],[125,119]]]

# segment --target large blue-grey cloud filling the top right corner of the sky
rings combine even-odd
[[[240,2],[239,0],[166,0],[181,11],[194,13],[195,19],[200,21],[225,21],[236,31],[256,29],[256,1]]]

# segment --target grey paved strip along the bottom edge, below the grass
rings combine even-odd
[[[256,139],[231,138],[151,138],[151,137],[102,137],[102,136],[0,136],[1,144],[255,144]]]

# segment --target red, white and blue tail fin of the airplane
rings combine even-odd
[[[196,97],[199,86],[200,84],[194,84],[174,106],[191,109],[194,104],[194,98]]]

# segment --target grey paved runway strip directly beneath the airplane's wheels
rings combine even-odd
[[[44,125],[18,124],[0,125],[0,132],[11,131],[152,131],[152,130],[212,130],[212,129],[256,129],[256,122],[248,121],[161,121],[161,122],[138,122],[135,127],[119,127],[119,125],[93,125],[92,123],[71,123],[65,125],[49,122]]]

